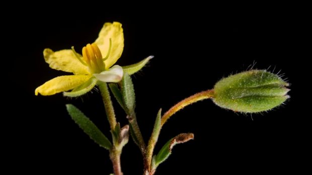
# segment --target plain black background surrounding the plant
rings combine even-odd
[[[58,4],[59,5],[59,4]],[[304,30],[295,7],[236,9],[222,6],[184,5],[134,10],[118,6],[73,8],[42,7],[23,11],[7,20],[14,50],[8,98],[13,115],[6,130],[10,148],[7,162],[25,172],[38,174],[109,174],[108,151],[99,147],[70,119],[65,104],[72,103],[109,136],[109,125],[97,91],[82,98],[61,94],[35,96],[36,87],[60,75],[44,62],[44,48],[76,50],[92,43],[105,22],[123,24],[125,47],[118,65],[129,65],[154,55],[141,73],[133,76],[138,123],[145,140],[160,108],[165,112],[176,102],[211,89],[220,78],[254,68],[280,71],[291,83],[285,105],[261,114],[223,110],[210,100],[198,102],[175,114],[162,129],[158,151],[173,136],[193,132],[195,139],[177,145],[156,174],[280,173],[302,169],[302,126],[307,115],[299,110],[299,56]],[[96,5],[95,5],[96,6]],[[100,5],[99,5],[100,6]],[[139,5],[137,5],[139,6]],[[270,6],[268,6],[270,7]],[[109,11],[108,11],[109,10]],[[5,60],[8,61],[8,60]],[[299,72],[298,72],[299,71]],[[301,91],[302,92],[302,91]],[[8,94],[5,94],[9,95]],[[9,105],[8,105],[9,106]],[[114,101],[117,120],[127,124]],[[142,158],[133,143],[122,153],[124,174],[142,174]],[[299,163],[300,162],[300,163]],[[11,170],[20,170],[15,168]]]

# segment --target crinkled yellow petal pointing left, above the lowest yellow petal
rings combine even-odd
[[[51,49],[44,49],[43,56],[52,69],[65,72],[72,72],[75,75],[88,75],[88,67],[83,65],[71,50],[60,50],[53,52]]]

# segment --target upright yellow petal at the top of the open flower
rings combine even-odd
[[[108,59],[104,61],[106,69],[116,63],[123,50],[123,29],[120,23],[105,23],[101,29],[99,38],[95,41],[95,43],[100,48],[103,57],[105,57],[108,53],[109,39],[112,40],[112,46]]]

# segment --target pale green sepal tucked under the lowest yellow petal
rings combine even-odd
[[[91,91],[97,84],[97,79],[95,77],[90,78],[86,83],[74,88],[71,92],[63,92],[66,97],[78,97]]]

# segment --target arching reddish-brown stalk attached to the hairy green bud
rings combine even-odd
[[[173,107],[171,107],[163,116],[162,116],[162,126],[166,123],[166,121],[176,112],[178,112],[179,110],[181,110],[182,108],[184,108],[187,105],[190,105],[192,103],[204,100],[204,99],[208,99],[208,98],[212,98],[214,94],[213,89],[211,90],[206,90],[206,91],[202,91],[199,92],[197,94],[194,94],[182,101],[180,101],[179,103],[177,103],[176,105],[174,105]]]

